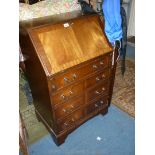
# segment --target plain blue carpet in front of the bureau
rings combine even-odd
[[[47,135],[29,146],[30,155],[134,155],[134,119],[111,105],[84,123],[59,147]]]

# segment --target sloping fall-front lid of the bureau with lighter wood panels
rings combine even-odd
[[[96,15],[36,27],[29,35],[47,75],[112,50]]]

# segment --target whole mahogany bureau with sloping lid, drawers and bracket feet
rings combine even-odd
[[[98,15],[28,30],[25,62],[36,114],[57,145],[110,104],[116,52]],[[113,63],[114,62],[114,63]]]

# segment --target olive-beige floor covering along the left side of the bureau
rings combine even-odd
[[[32,144],[39,140],[40,138],[44,137],[48,134],[47,129],[45,126],[38,122],[35,109],[33,103],[28,102],[28,98],[25,93],[24,86],[26,84],[26,80],[23,74],[20,72],[19,76],[19,109],[21,115],[23,117],[23,121],[25,123],[27,133],[28,133],[28,144]]]

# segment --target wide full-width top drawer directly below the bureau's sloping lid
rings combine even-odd
[[[80,65],[59,73],[50,79],[51,91],[59,90],[73,82],[76,82],[90,74],[109,66],[110,55],[100,56],[87,64]]]

